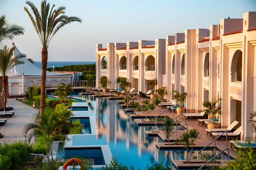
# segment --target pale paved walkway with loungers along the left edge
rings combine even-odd
[[[34,109],[29,105],[25,105],[15,99],[8,99],[8,105],[13,106],[15,114],[12,117],[0,117],[0,119],[7,119],[7,122],[0,126],[0,133],[3,133],[3,139],[0,139],[0,143],[15,142],[17,140],[25,140],[22,135],[24,125],[32,122],[32,114],[37,113],[38,109]],[[34,142],[32,139],[31,142]]]

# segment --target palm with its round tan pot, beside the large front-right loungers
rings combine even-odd
[[[218,100],[205,101],[203,102],[204,109],[200,112],[205,113],[206,115],[210,116],[211,122],[207,125],[208,129],[216,129],[220,128],[220,124],[215,122],[215,119],[217,118],[216,115],[221,114],[221,107],[219,107],[217,104],[222,99],[219,98]]]

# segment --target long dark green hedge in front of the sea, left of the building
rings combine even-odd
[[[53,68],[47,68],[47,71],[52,71]],[[84,64],[84,65],[64,65],[62,67],[55,67],[55,71],[79,71],[79,72],[91,72],[96,74],[96,63]]]

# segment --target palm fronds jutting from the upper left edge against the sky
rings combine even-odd
[[[15,36],[24,34],[25,29],[16,24],[9,24],[6,20],[6,15],[0,16],[0,46],[3,46],[3,41],[12,40]]]

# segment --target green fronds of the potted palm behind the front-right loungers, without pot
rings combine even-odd
[[[204,112],[205,115],[209,115],[212,123],[215,123],[215,116],[216,114],[221,114],[221,107],[218,106],[218,102],[221,101],[222,99],[219,98],[217,100],[212,99],[212,102],[209,101],[204,101],[203,106],[204,109],[201,110],[200,112]]]

